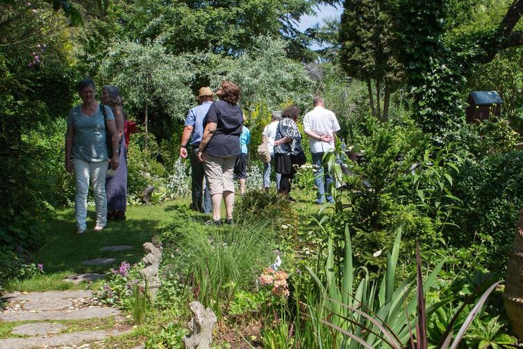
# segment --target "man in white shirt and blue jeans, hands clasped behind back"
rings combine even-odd
[[[313,165],[316,168],[314,179],[318,190],[316,203],[323,204],[325,195],[328,202],[333,202],[333,197],[329,193],[333,178],[327,165],[322,165],[322,159],[326,152],[334,150],[334,139],[336,132],[340,131],[340,124],[336,115],[324,107],[322,97],[314,97],[313,106],[314,109],[305,114],[304,132],[308,136]]]

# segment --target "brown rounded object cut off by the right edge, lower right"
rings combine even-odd
[[[513,330],[523,339],[523,209],[508,259],[503,299]]]

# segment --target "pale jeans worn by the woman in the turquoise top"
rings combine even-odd
[[[107,197],[106,175],[109,161],[88,163],[79,159],[72,159],[76,194],[74,195],[74,211],[78,229],[85,230],[87,225],[87,197],[89,182],[92,185],[94,204],[97,210],[97,225],[105,227],[107,224]]]

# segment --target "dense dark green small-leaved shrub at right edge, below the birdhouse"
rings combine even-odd
[[[486,266],[503,268],[512,245],[517,213],[523,206],[523,153],[508,152],[466,159],[456,177],[456,196],[463,200],[454,214],[458,227],[445,228],[451,245],[473,245],[476,234],[489,236]]]

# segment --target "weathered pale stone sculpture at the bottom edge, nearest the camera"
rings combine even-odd
[[[190,334],[183,337],[185,349],[209,349],[210,343],[213,343],[216,315],[209,308],[205,309],[198,301],[190,302],[189,309],[194,317],[188,323]]]

